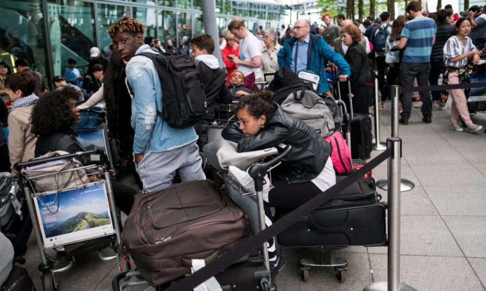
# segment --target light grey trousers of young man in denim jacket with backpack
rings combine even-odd
[[[205,180],[202,159],[196,141],[166,152],[146,152],[136,166],[144,190],[153,192],[168,188],[176,173],[183,182]]]

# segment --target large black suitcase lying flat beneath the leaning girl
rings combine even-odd
[[[338,183],[344,176],[336,178]],[[284,247],[384,246],[385,210],[376,192],[359,179],[338,197],[281,232],[278,244]],[[277,216],[285,214],[277,213]]]

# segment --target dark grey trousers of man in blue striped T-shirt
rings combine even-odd
[[[400,80],[402,87],[413,87],[414,79],[417,78],[419,86],[428,86],[429,84],[430,63],[406,63],[400,65]],[[404,92],[402,94],[401,105],[403,112],[401,117],[409,119],[412,113],[412,95],[413,92]],[[432,117],[432,100],[430,91],[420,91],[422,97],[422,115]]]

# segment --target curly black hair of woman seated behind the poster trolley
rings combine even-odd
[[[79,93],[71,87],[54,90],[37,101],[32,110],[31,132],[36,136],[65,132],[71,129],[75,118],[69,100],[77,100]]]

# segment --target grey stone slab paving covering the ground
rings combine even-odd
[[[387,108],[381,111],[382,141],[391,130],[390,104]],[[414,109],[410,124],[399,128],[402,177],[416,184],[401,196],[401,281],[419,291],[486,290],[486,134],[452,131],[450,111],[433,114],[433,123],[425,124],[420,110]],[[486,114],[478,113],[473,120],[486,127]],[[386,178],[386,163],[373,174]],[[386,192],[380,192],[386,199]],[[25,267],[42,290],[33,235],[28,249]],[[284,250],[287,267],[278,275],[278,289],[360,291],[373,281],[386,280],[386,253],[386,247],[341,250],[335,255],[349,264],[344,283],[337,282],[331,268],[311,269],[304,283],[298,260],[305,252]],[[101,262],[97,254],[88,254],[56,277],[60,290],[111,290],[116,272],[116,262]]]

